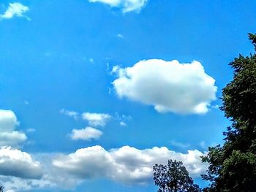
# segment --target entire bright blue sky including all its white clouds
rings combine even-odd
[[[0,2],[0,183],[13,191],[157,191],[151,167],[222,143],[228,66],[256,2]]]

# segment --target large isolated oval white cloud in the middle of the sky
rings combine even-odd
[[[215,80],[198,61],[150,59],[125,69],[114,66],[112,72],[118,75],[113,86],[120,98],[153,105],[158,112],[202,114],[216,99]]]

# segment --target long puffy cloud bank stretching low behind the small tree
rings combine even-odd
[[[167,164],[168,159],[183,161],[192,177],[199,177],[207,168],[201,163],[198,150],[176,153],[167,147],[153,147],[138,150],[124,146],[105,150],[101,146],[86,147],[53,159],[53,166],[59,172],[69,174],[80,180],[105,177],[129,185],[145,184],[151,180],[154,164]]]

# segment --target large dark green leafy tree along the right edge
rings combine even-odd
[[[249,34],[256,48],[256,35]],[[256,191],[256,55],[239,55],[230,63],[233,80],[222,90],[222,107],[232,125],[223,146],[209,147],[205,191]]]

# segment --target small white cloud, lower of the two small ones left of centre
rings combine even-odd
[[[91,140],[99,139],[102,136],[102,131],[96,128],[86,127],[82,129],[73,129],[71,134],[71,139],[73,140]]]

